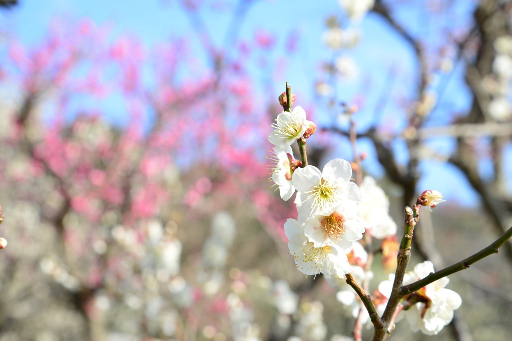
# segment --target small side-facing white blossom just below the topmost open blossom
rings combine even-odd
[[[289,200],[293,193],[295,193],[295,187],[292,184],[291,178],[293,174],[291,162],[293,158],[293,150],[290,146],[286,147],[274,147],[275,157],[271,157],[275,165],[270,168],[272,170],[272,181],[275,185],[279,186],[279,194],[284,200]]]

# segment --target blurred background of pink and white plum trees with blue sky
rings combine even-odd
[[[1,0],[0,340],[345,340],[350,309],[296,270],[296,209],[267,180],[278,96],[290,82],[318,126],[311,164],[364,156],[399,234],[404,206],[445,195],[412,261],[440,269],[512,225],[511,18],[505,0]],[[508,242],[451,277],[450,326],[392,339],[509,339],[511,266]]]

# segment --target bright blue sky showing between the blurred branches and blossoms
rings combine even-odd
[[[152,1],[68,1],[47,0],[45,6],[39,2],[21,0],[20,5],[11,11],[0,13],[0,28],[16,34],[23,42],[34,44],[41,40],[47,32],[50,21],[55,17],[64,17],[71,20],[91,18],[97,24],[108,24],[115,34],[131,33],[139,37],[146,46],[166,41],[170,37],[186,36],[195,40],[196,52],[203,53],[197,36],[191,34],[190,21],[184,14],[183,8],[173,0]],[[218,1],[216,8],[207,8],[201,12],[208,31],[214,42],[221,47],[225,38],[226,29],[232,19],[232,10],[237,1]],[[458,5],[453,10],[458,13],[453,17],[439,16],[436,25],[426,25],[422,22],[423,13],[416,6],[404,5],[400,12],[396,12],[398,20],[414,34],[424,34],[425,27],[431,32],[431,39],[435,43],[436,33],[445,26],[452,25],[451,20],[462,24],[468,20],[468,16],[474,6],[473,1],[455,2]],[[223,10],[219,10],[219,8]],[[334,55],[322,42],[322,36],[326,30],[325,19],[330,15],[343,18],[342,10],[335,1],[300,2],[292,3],[284,0],[254,1],[245,20],[241,23],[239,36],[241,39],[252,40],[255,32],[265,30],[271,32],[276,38],[277,46],[272,55],[267,58],[279,58],[286,56],[284,43],[291,33],[300,35],[297,52],[289,56],[288,67],[283,73],[276,73],[270,66],[268,70],[258,69],[254,65],[252,72],[256,80],[265,84],[272,82],[275,86],[284,86],[289,81],[294,92],[301,95],[303,106],[311,106],[315,101],[314,83],[319,70],[319,61],[332,60]],[[428,20],[428,19],[427,19]],[[431,23],[432,24],[432,23]],[[396,79],[393,82],[395,94],[406,94],[415,84],[416,60],[407,44],[391,30],[383,20],[375,14],[370,14],[366,19],[355,25],[362,32],[362,39],[358,47],[344,52],[353,57],[359,66],[360,76],[352,82],[341,83],[338,87],[339,100],[351,102],[354,96],[364,92],[369,94],[366,105],[357,115],[358,124],[365,128],[371,123],[373,110],[378,97],[386,87],[386,77],[390,69],[396,71]],[[434,28],[434,29],[433,29]],[[437,30],[437,31],[436,31]],[[444,96],[451,110],[465,111],[470,105],[465,85],[462,82],[463,68],[457,69],[453,80],[447,87]],[[277,88],[281,92],[281,88]],[[272,94],[273,97],[275,94]],[[317,112],[322,113],[322,106],[318,106]],[[389,101],[382,109],[382,117],[385,120],[396,120],[401,108]],[[442,117],[442,111],[437,112]],[[318,118],[321,123],[332,122],[332,116],[323,115]],[[450,148],[447,141],[438,140],[431,144],[435,150],[443,151]],[[372,151],[369,144],[362,142],[360,151],[367,149]],[[337,157],[347,156],[336,155]],[[375,162],[368,161],[366,166],[374,175],[381,175]],[[460,176],[451,166],[443,162],[429,163],[428,168],[423,167],[424,177],[418,189],[438,189],[449,199],[475,198],[473,191],[461,180]],[[458,186],[454,186],[457,184]]]

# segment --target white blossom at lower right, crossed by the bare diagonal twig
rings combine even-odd
[[[403,284],[411,284],[425,278],[431,272],[435,272],[431,261],[417,264],[414,271],[406,274]],[[407,320],[412,330],[421,330],[425,334],[434,335],[452,321],[454,310],[461,306],[462,298],[457,292],[445,288],[449,282],[447,277],[443,277],[411,294],[412,298],[420,294],[423,300],[428,300],[428,303],[414,303],[410,309],[406,310]]]

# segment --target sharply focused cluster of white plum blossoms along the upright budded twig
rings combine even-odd
[[[364,232],[357,220],[361,191],[351,182],[352,167],[346,160],[336,158],[321,171],[308,165],[304,154],[301,161],[295,159],[291,145],[297,141],[305,147],[316,125],[307,120],[302,107],[291,111],[291,106],[285,103],[269,136],[275,145],[271,179],[283,199],[296,192],[298,217],[285,223],[290,253],[306,275],[343,277],[351,272],[347,254]]]

